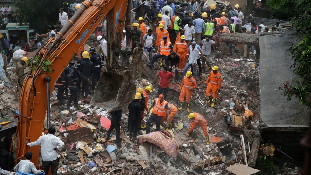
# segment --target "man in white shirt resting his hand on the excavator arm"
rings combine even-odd
[[[64,142],[54,135],[56,129],[54,126],[49,127],[49,133],[42,135],[38,140],[30,142],[25,141],[30,147],[41,145],[42,169],[44,172],[49,172],[51,166],[52,175],[57,175],[58,169],[58,154],[56,150],[61,151],[64,147]]]

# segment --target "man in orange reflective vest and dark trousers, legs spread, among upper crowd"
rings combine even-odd
[[[165,59],[165,65],[169,66],[169,53],[172,52],[173,46],[172,43],[167,40],[167,36],[163,36],[163,41],[160,42],[156,54],[152,57],[151,63],[147,64],[149,67],[152,67],[153,63],[157,59],[161,59],[160,66],[163,66],[163,58]]]

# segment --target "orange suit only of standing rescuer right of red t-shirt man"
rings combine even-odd
[[[191,76],[191,78],[188,78],[187,76],[183,77],[183,83],[181,83],[180,89],[181,92],[179,94],[179,101],[183,102],[184,97],[186,96],[186,103],[190,102],[190,97],[192,90],[197,87],[197,82],[195,81],[195,78]],[[191,89],[189,91],[189,89]]]

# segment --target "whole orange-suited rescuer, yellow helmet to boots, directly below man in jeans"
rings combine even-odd
[[[197,81],[195,78],[191,76],[191,71],[187,71],[186,76],[183,77],[183,83],[181,83],[180,89],[181,92],[179,94],[179,101],[181,107],[178,108],[178,110],[184,111],[187,108],[187,111],[190,113],[191,111],[189,110],[189,103],[190,103],[190,97],[192,90],[197,87]],[[186,96],[186,100],[185,99]],[[185,105],[185,101],[187,103],[187,106]]]

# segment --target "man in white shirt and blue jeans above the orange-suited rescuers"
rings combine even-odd
[[[196,48],[196,42],[191,43],[191,48],[189,49],[189,62],[186,64],[183,71],[183,76],[186,76],[187,70],[192,67],[193,78],[197,78],[197,57],[199,57],[199,50]]]

